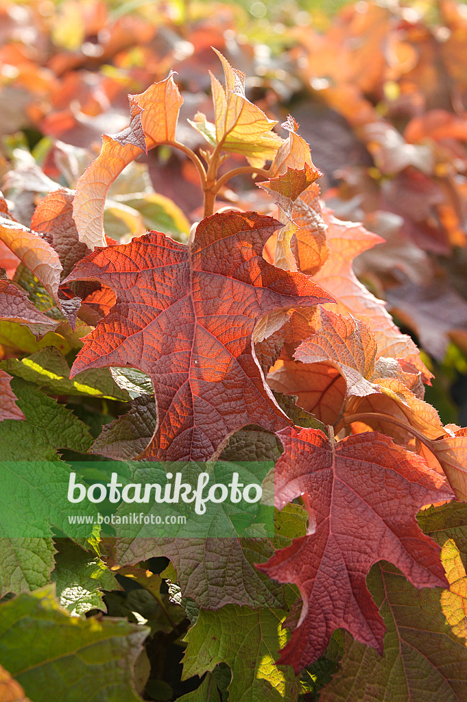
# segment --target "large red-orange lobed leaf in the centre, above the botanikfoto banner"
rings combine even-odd
[[[279,226],[257,213],[218,213],[198,225],[190,246],[151,232],[98,249],[67,278],[98,279],[117,295],[84,339],[72,375],[133,366],[150,376],[159,425],[145,458],[203,460],[244,425],[289,424],[254,357],[256,321],[332,298],[264,260]]]

